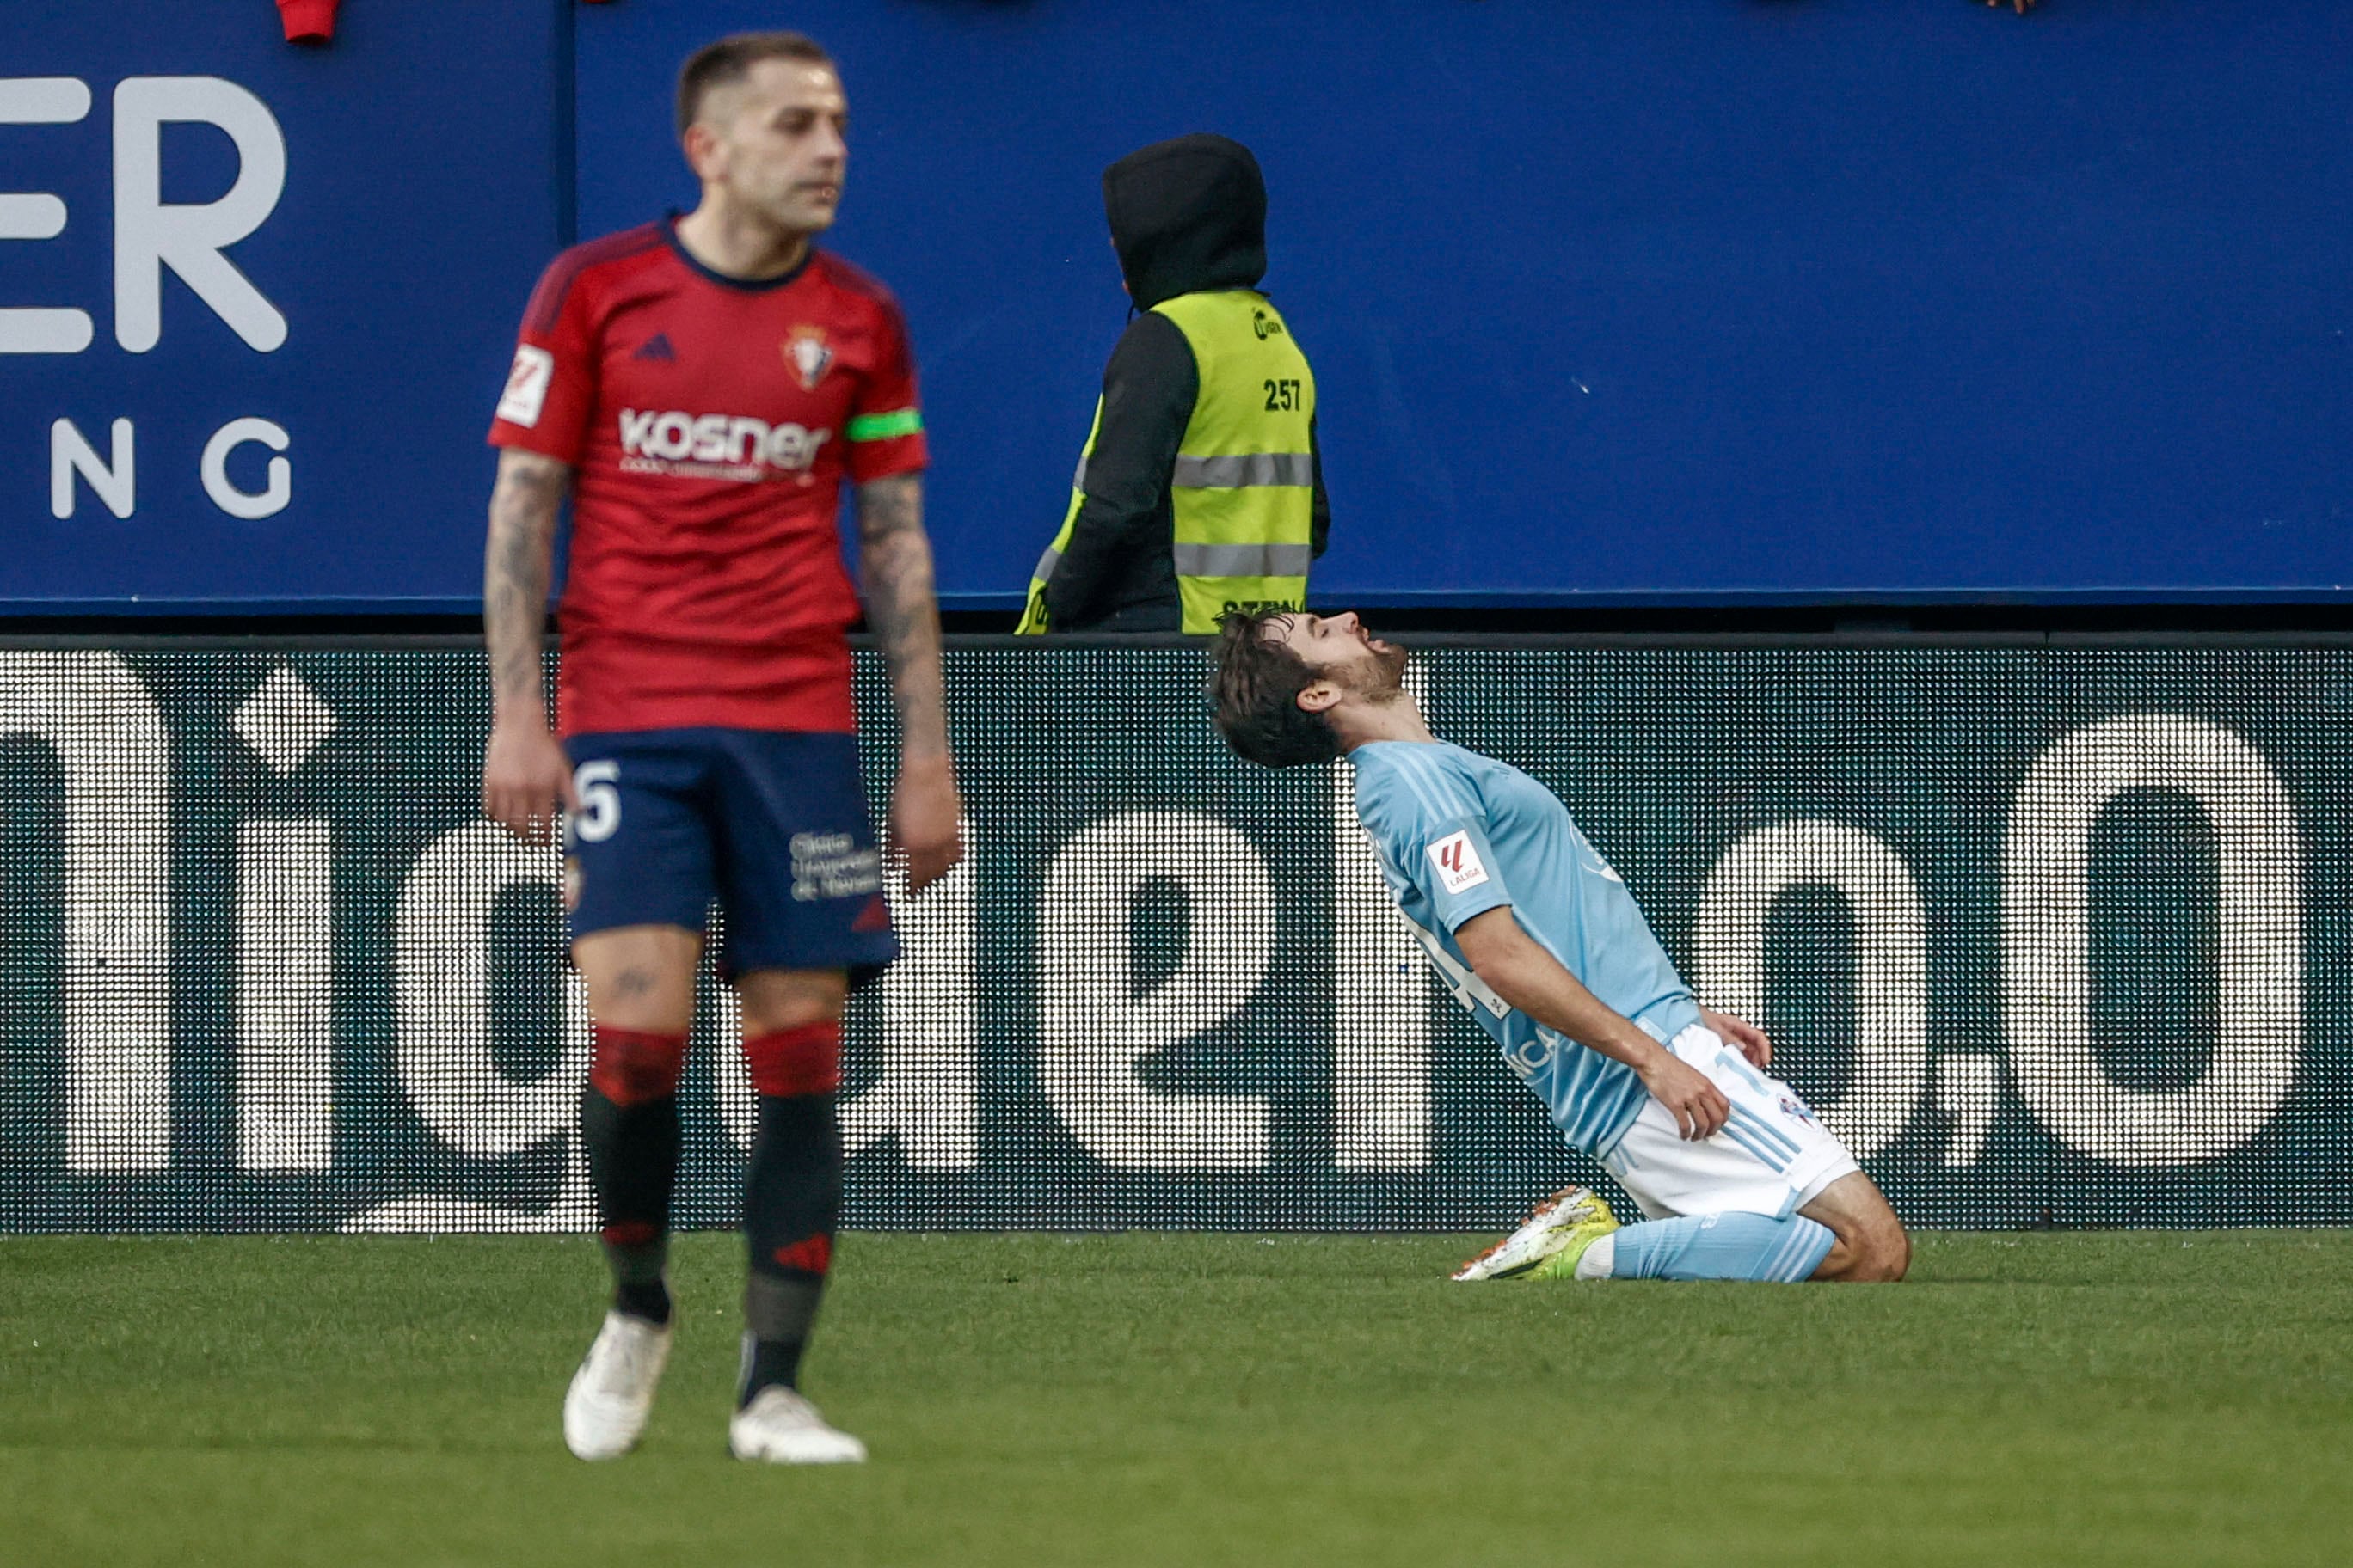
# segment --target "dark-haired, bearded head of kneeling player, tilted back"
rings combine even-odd
[[[1353,611],[1235,609],[1217,625],[1212,717],[1245,762],[1329,762],[1365,738],[1358,708],[1405,693],[1405,649],[1369,637]]]

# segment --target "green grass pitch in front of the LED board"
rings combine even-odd
[[[1459,1237],[847,1237],[725,1458],[687,1237],[645,1446],[581,1465],[586,1239],[0,1241],[0,1561],[2346,1563],[2353,1232],[1920,1239],[1880,1288],[1454,1286]]]

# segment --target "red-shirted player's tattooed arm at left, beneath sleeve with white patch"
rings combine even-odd
[[[499,454],[489,491],[489,548],[482,552],[482,635],[489,642],[492,719],[482,755],[482,816],[525,842],[555,830],[572,799],[572,766],[548,733],[539,682],[548,625],[548,571],[555,508],[572,468],[536,451]]]

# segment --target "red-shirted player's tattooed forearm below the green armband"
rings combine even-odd
[[[948,757],[948,701],[939,668],[932,541],[922,531],[922,475],[901,473],[859,484],[859,576],[866,625],[882,644],[899,703],[892,853],[906,858],[906,886],[920,893],[965,856],[958,823],[962,799]]]

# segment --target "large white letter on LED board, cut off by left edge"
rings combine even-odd
[[[172,736],[113,654],[0,654],[0,736],[66,780],[66,1168],[172,1166]]]

